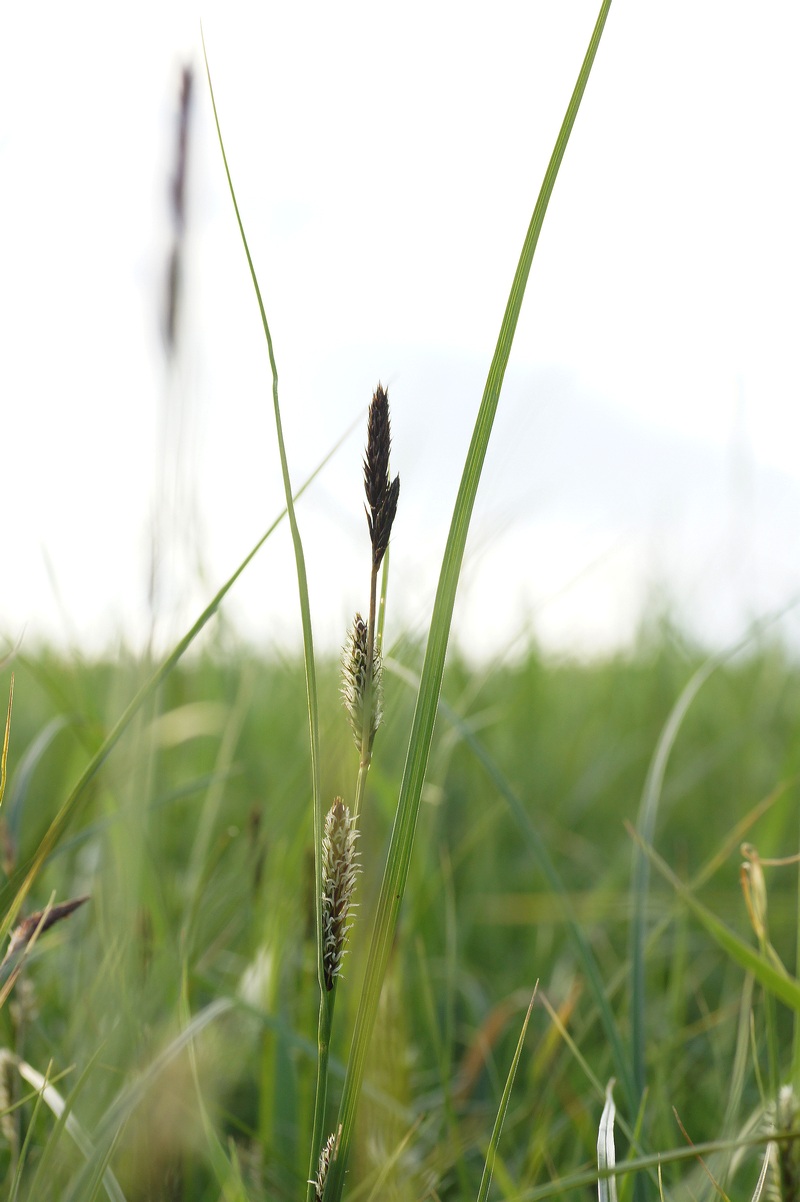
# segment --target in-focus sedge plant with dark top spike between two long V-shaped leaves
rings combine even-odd
[[[309,1200],[312,1198],[315,1194],[321,1192],[326,1202],[338,1202],[338,1200],[341,1197],[342,1194],[345,1184],[345,1173],[347,1168],[347,1161],[354,1133],[356,1113],[357,1113],[359,1094],[362,1090],[366,1049],[371,1037],[375,1017],[377,1013],[377,1005],[383,978],[386,975],[389,951],[392,947],[392,942],[394,940],[400,905],[402,902],[405,885],[408,876],[408,867],[413,847],[414,831],[419,813],[422,786],[425,778],[425,769],[430,754],[434,724],[436,719],[436,709],[441,692],[442,677],[444,672],[444,660],[449,641],[453,607],[455,603],[455,593],[464,559],[466,537],[470,528],[470,518],[472,514],[472,508],[478,490],[478,483],[480,481],[480,472],[485,459],[486,448],[489,446],[491,428],[497,410],[497,404],[500,400],[503,376],[511,355],[514,332],[519,320],[519,314],[525,296],[525,288],[527,285],[527,279],[533,261],[533,254],[536,250],[536,245],[538,243],[542,225],[544,222],[544,216],[548,209],[548,204],[553,195],[553,189],[555,186],[555,180],[559,173],[559,168],[561,166],[567,148],[567,143],[569,141],[569,135],[572,132],[575,118],[578,115],[580,101],[583,99],[586,83],[589,81],[591,67],[595,61],[595,56],[599,46],[599,41],[605,25],[605,19],[608,17],[609,8],[610,8],[610,0],[604,0],[599,10],[599,14],[595,25],[595,30],[592,32],[592,37],[590,40],[589,49],[586,50],[586,55],[578,76],[578,82],[575,84],[569,105],[567,107],[567,113],[565,115],[561,130],[556,138],[556,144],[553,150],[550,162],[548,165],[544,175],[544,182],[542,184],[538,201],[533,209],[533,215],[531,218],[527,234],[525,237],[523,251],[517,267],[511,294],[506,307],[506,313],[501,325],[497,346],[491,362],[491,367],[489,369],[486,386],[478,411],[478,417],[476,421],[472,441],[470,445],[470,450],[467,452],[467,459],[461,477],[461,484],[459,488],[453,512],[450,532],[444,551],[444,559],[442,563],[440,583],[436,593],[436,601],[434,605],[434,613],[428,636],[428,644],[420,677],[417,706],[408,739],[406,767],[402,775],[402,784],[400,789],[400,797],[398,799],[394,827],[387,855],[383,882],[381,886],[377,910],[374,921],[372,939],[366,962],[365,977],[360,992],[360,1000],[351,1043],[347,1073],[345,1077],[345,1085],[339,1107],[339,1118],[335,1124],[333,1133],[326,1137],[324,1146],[323,1146],[322,1115],[324,1113],[326,1099],[327,1099],[327,1055],[329,1049],[330,1024],[333,1017],[333,998],[335,996],[335,990],[328,988],[327,976],[326,976],[326,963],[324,963],[327,934],[326,934],[326,886],[323,877],[324,831],[323,831],[322,802],[321,802],[321,790],[320,790],[320,726],[318,726],[318,702],[317,702],[317,690],[316,690],[316,671],[314,660],[314,639],[311,632],[311,618],[310,618],[310,605],[308,596],[305,559],[304,559],[303,542],[300,538],[299,526],[294,514],[294,507],[292,505],[292,489],[289,482],[288,460],[283,441],[280,405],[277,399],[277,367],[275,361],[273,338],[262,299],[261,288],[258,286],[256,269],[247,245],[247,239],[245,236],[244,225],[239,212],[239,206],[237,203],[235,191],[233,188],[233,180],[231,177],[227,156],[225,153],[222,132],[220,127],[216,102],[214,100],[214,90],[211,87],[210,71],[208,69],[208,59],[207,59],[209,90],[211,95],[211,103],[214,107],[214,117],[220,141],[220,149],[222,153],[222,160],[228,180],[228,188],[231,191],[231,198],[235,212],[237,224],[239,226],[239,232],[241,236],[245,256],[247,260],[247,267],[256,292],[257,304],[261,313],[262,326],[267,340],[267,349],[273,374],[273,409],[275,415],[281,470],[283,474],[287,511],[289,514],[292,540],[294,545],[294,555],[295,555],[297,577],[298,577],[298,594],[299,594],[299,605],[300,605],[302,624],[303,624],[303,647],[304,647],[304,662],[305,662],[305,676],[306,676],[306,696],[308,696],[312,796],[314,796],[315,881],[316,881],[315,926],[317,933],[317,939],[316,939],[317,977],[320,986],[320,1023],[318,1023],[320,1040],[317,1048],[318,1064],[317,1064],[317,1087],[316,1087],[317,1100],[315,1105],[314,1136],[312,1136],[310,1172],[309,1172],[309,1195],[308,1195]],[[377,397],[378,393],[376,393],[376,398]],[[388,545],[388,535],[390,532],[392,520],[394,519],[394,512],[396,510],[396,499],[399,490],[399,482],[396,481],[396,478],[395,482],[390,482],[388,477],[388,444],[389,444],[388,407],[386,412],[387,412],[387,427],[384,435],[384,448],[381,452],[380,457],[376,454],[375,463],[370,462],[370,450],[368,448],[368,459],[365,468],[370,534],[372,537],[372,576],[370,583],[370,618],[366,625],[364,655],[362,656],[362,662],[359,664],[359,671],[363,672],[364,701],[362,703],[362,713],[356,718],[356,725],[358,727],[359,725],[358,718],[360,716],[360,763],[359,763],[360,783],[359,786],[357,787],[357,797],[359,803],[360,803],[360,797],[363,796],[366,773],[369,770],[371,744],[375,733],[372,728],[374,714],[376,712],[375,702],[377,701],[377,691],[378,691],[376,682],[374,680],[374,672],[376,668],[376,661],[374,659],[374,655],[375,655],[375,596],[377,590],[377,570],[383,558],[383,553],[386,552],[386,546]],[[380,421],[381,421],[380,417],[375,418],[376,430]],[[324,1162],[324,1182],[322,1183],[322,1189],[318,1191],[320,1166],[322,1162]]]

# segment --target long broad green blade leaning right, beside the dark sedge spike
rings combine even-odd
[[[444,559],[434,602],[434,614],[431,618],[425,659],[423,662],[419,694],[412,721],[411,736],[408,739],[408,751],[400,786],[400,798],[395,814],[394,827],[386,870],[381,885],[381,893],[377,903],[377,912],[372,930],[372,941],[366,963],[364,984],[359,999],[359,1008],[353,1031],[353,1042],[347,1065],[347,1076],[339,1111],[339,1123],[341,1124],[341,1139],[339,1152],[330,1166],[326,1186],[327,1202],[338,1202],[341,1197],[350,1147],[353,1138],[356,1121],[356,1109],[364,1077],[364,1065],[366,1051],[375,1024],[381,986],[389,962],[392,944],[400,912],[400,904],[408,875],[408,864],[413,846],[417,815],[419,813],[419,798],[425,779],[428,757],[434,733],[434,722],[438,706],[438,696],[442,686],[442,674],[444,671],[444,656],[450,632],[453,607],[455,605],[455,591],[464,560],[464,548],[466,546],[467,531],[472,507],[474,505],[480,472],[489,446],[489,438],[497,411],[500,389],[508,365],[517,322],[519,320],[525,287],[533,262],[533,252],[538,243],[544,216],[548,209],[550,196],[559,174],[559,168],[563,159],[569,135],[580,107],[586,83],[591,72],[592,63],[599,46],[599,40],[605,24],[605,18],[610,8],[610,0],[603,0],[603,5],[592,32],[586,56],[581,65],[578,82],[573,90],[567,113],[561,130],[556,138],[556,144],[550,156],[550,162],[544,173],[544,180],[539,191],[533,215],[525,237],[523,251],[519,258],[517,272],[506,305],[497,346],[489,368],[489,375],[480,401],[480,409],[472,433],[472,441],[467,452],[464,474],[459,487],[450,530],[444,548]]]

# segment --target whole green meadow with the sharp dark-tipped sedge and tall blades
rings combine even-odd
[[[314,649],[277,365],[220,132],[273,371],[303,662],[238,648],[223,617],[184,657],[264,540],[160,664],[17,656],[8,1198],[799,1196],[796,891],[769,861],[796,846],[795,665],[756,638],[708,659],[667,627],[591,665],[447,661],[517,319],[608,8],[525,238],[426,642],[388,653],[398,483],[376,389],[351,730]]]

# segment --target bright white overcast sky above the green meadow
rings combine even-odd
[[[424,630],[598,8],[4,7],[0,636],[144,638],[156,510],[169,555],[157,629],[180,633],[282,507],[201,17],[293,481],[388,383],[402,481],[389,636]],[[800,591],[798,44],[789,0],[615,0],[501,398],[456,614],[465,647],[494,653],[526,624],[567,650],[625,642],[653,597],[724,641]],[[171,371],[159,317],[185,61],[196,103]],[[299,508],[328,647],[366,603],[363,441],[359,427]],[[226,613],[294,645],[287,529]]]

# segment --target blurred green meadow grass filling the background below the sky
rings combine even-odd
[[[395,659],[406,672],[418,668],[414,648],[395,650]],[[454,656],[446,674],[443,697],[523,801],[557,867],[623,1040],[632,863],[623,822],[635,820],[661,728],[699,662],[674,633],[656,632],[635,651],[595,664],[549,661],[531,650],[519,664],[491,671]],[[382,754],[363,811],[365,924],[413,703],[413,690],[390,667]],[[4,805],[17,863],[35,852],[141,674],[132,661],[64,662],[47,651],[17,662]],[[332,797],[352,778],[354,755],[334,664],[321,665],[320,709],[322,793]],[[668,764],[656,837],[659,853],[683,879],[796,774],[799,722],[800,671],[775,645],[740,655],[706,682]],[[46,905],[53,891],[59,900],[89,893],[91,902],[36,946],[14,1005],[0,1012],[0,1042],[41,1072],[50,1063],[53,1073],[68,1070],[59,1088],[68,1096],[78,1087],[73,1103],[85,1130],[169,1047],[181,993],[193,1012],[217,998],[237,1000],[198,1035],[196,1077],[186,1054],[177,1054],[119,1132],[113,1165],[129,1198],[219,1196],[198,1097],[222,1142],[234,1141],[243,1196],[297,1197],[303,1189],[316,1030],[308,754],[300,662],[211,649],[163,684],[36,881],[31,909]],[[796,847],[796,790],[788,789],[758,817],[747,838],[762,857]],[[605,1082],[611,1063],[559,899],[473,749],[442,715],[419,823],[351,1189],[386,1165],[413,1127],[398,1156],[398,1196],[422,1196],[435,1180],[440,1196],[455,1197],[465,1185],[477,1194],[537,980],[597,1081]],[[752,938],[739,863],[734,844],[699,895]],[[793,968],[793,870],[768,874],[770,936]],[[661,880],[651,886],[649,926],[656,934],[646,956],[644,1131],[653,1150],[682,1144],[673,1106],[699,1142],[738,1130],[759,1097],[747,1054],[732,1114],[742,972]],[[363,956],[364,941],[353,940],[339,990],[334,1095]],[[765,1072],[758,992],[754,999]],[[788,1072],[790,1023],[780,1007],[777,1022]],[[590,1165],[602,1105],[579,1059],[537,1007],[494,1188],[513,1182],[523,1192]],[[24,1135],[32,1103],[16,1114]],[[626,1118],[632,1123],[634,1115]],[[68,1138],[49,1143],[54,1125],[40,1106],[19,1197],[32,1196],[26,1189],[43,1155],[53,1196],[76,1172],[80,1158]],[[675,1173],[685,1176],[686,1167]]]

